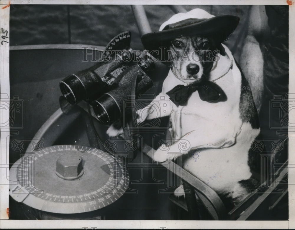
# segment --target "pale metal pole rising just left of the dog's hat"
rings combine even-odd
[[[138,27],[138,31],[140,36],[143,34],[147,34],[152,32],[150,28],[150,23],[148,22],[148,18],[145,14],[145,9],[142,5],[131,5],[131,9],[133,11],[133,15],[135,17],[135,21]]]

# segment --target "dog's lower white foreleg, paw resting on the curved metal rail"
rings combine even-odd
[[[200,137],[200,133],[202,137]],[[223,133],[214,133],[214,135],[206,135],[199,130],[187,133],[170,146],[162,145],[153,154],[155,162],[164,162],[169,157],[177,158],[182,154],[188,153],[190,150],[198,148],[225,148],[235,143],[236,134],[233,137],[225,138]]]

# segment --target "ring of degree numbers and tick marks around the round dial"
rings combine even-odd
[[[109,183],[106,183],[104,186],[102,186],[101,188],[99,188],[95,191],[92,191],[92,192],[89,192],[86,194],[82,194],[82,195],[77,195],[76,197],[80,198],[81,201],[78,201],[78,199],[76,199],[75,196],[70,196],[67,198],[67,196],[61,195],[61,194],[60,195],[57,195],[57,194],[49,194],[49,195],[46,194],[45,195],[40,192],[39,192],[39,194],[34,193],[35,191],[38,191],[38,190],[36,190],[35,188],[33,188],[31,186],[31,181],[29,181],[28,175],[25,175],[25,176],[22,175],[24,172],[27,171],[27,169],[22,170],[21,165],[18,168],[17,173],[16,173],[19,183],[23,182],[21,184],[25,185],[25,188],[27,189],[27,191],[29,191],[31,193],[30,195],[34,195],[35,197],[39,197],[42,195],[41,199],[43,199],[43,200],[48,200],[48,201],[52,200],[51,202],[53,202],[53,203],[61,202],[61,203],[77,204],[76,207],[79,210],[77,210],[77,208],[74,208],[74,206],[73,206],[73,209],[75,209],[75,211],[79,211],[79,212],[83,212],[78,207],[79,204],[81,204],[80,206],[81,206],[81,208],[83,207],[83,210],[85,210],[85,207],[88,207],[88,209],[90,209],[90,206],[93,207],[94,210],[96,210],[96,209],[100,209],[100,208],[106,206],[105,203],[107,203],[107,204],[110,204],[110,202],[113,203],[112,198],[117,200],[117,198],[114,197],[115,194],[118,197],[122,196],[122,194],[124,193],[124,190],[122,189],[122,187],[125,187],[127,189],[128,183],[126,183],[126,182],[129,181],[129,177],[128,177],[128,174],[126,174],[126,172],[124,171],[126,169],[125,169],[125,167],[122,166],[122,163],[121,163],[121,161],[119,161],[119,159],[114,159],[113,156],[110,156],[107,153],[104,153],[104,152],[99,151],[97,149],[93,149],[93,148],[86,147],[86,146],[80,146],[80,145],[78,145],[78,146],[77,145],[69,145],[68,146],[68,145],[66,145],[65,150],[72,150],[72,148],[76,149],[76,151],[78,151],[78,152],[80,151],[81,153],[89,153],[92,155],[96,155],[98,158],[100,158],[100,160],[103,160],[103,163],[108,165],[109,169],[110,169],[110,177],[109,177],[109,180],[107,181]],[[62,152],[64,150],[64,147],[63,147],[63,145],[61,145],[61,146],[51,146],[51,147],[44,148],[44,149],[42,149],[44,154],[41,153],[40,151],[36,151],[35,153],[37,153],[37,154],[35,154],[35,158],[34,158],[35,162],[38,158],[41,158],[43,155],[47,155],[48,153],[50,154],[50,153],[57,152],[56,151],[57,149],[60,150],[59,152]],[[97,154],[98,151],[99,151],[99,155]],[[109,159],[109,158],[111,158],[111,159]],[[32,165],[33,161],[30,160],[30,158],[25,158],[24,165],[25,166],[27,165],[30,167]],[[114,168],[114,164],[117,167]],[[119,176],[120,176],[120,178],[118,178]],[[124,181],[125,181],[125,184],[124,184]],[[24,183],[24,182],[27,182],[27,183]],[[29,184],[29,186],[27,186],[27,184]],[[115,184],[117,184],[117,186],[114,186]],[[112,187],[112,189],[109,188],[108,186]],[[119,190],[120,190],[120,192],[119,192]],[[123,192],[121,192],[121,191],[123,191]],[[44,191],[44,193],[46,193],[46,191]],[[92,198],[90,197],[90,195],[92,196]],[[57,198],[58,198],[58,201],[56,201]],[[61,201],[61,199],[62,199],[62,201]],[[82,202],[84,202],[84,203],[82,203]],[[87,202],[87,203],[85,203],[85,202]],[[100,204],[102,204],[103,206],[101,207]]]

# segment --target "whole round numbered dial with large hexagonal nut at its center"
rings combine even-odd
[[[9,194],[34,209],[86,213],[112,204],[127,190],[124,160],[99,149],[56,145],[25,154],[9,171]]]

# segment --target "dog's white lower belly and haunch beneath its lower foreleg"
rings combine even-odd
[[[244,123],[237,143],[229,148],[199,149],[187,158],[183,167],[219,193],[229,192],[238,181],[250,178],[248,151],[259,134],[250,123]]]

